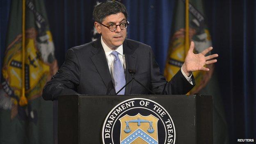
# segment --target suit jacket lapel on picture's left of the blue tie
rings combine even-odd
[[[103,47],[101,45],[101,39],[99,38],[94,42],[94,49],[91,50],[94,55],[91,57],[91,61],[94,63],[101,79],[107,87],[107,94],[115,95],[115,89],[110,75],[110,71],[107,64],[107,59]]]

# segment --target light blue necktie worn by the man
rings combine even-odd
[[[124,76],[123,65],[118,57],[118,52],[113,51],[111,54],[114,55],[114,57],[115,57],[115,59],[114,59],[114,85],[115,85],[115,90],[117,93],[117,91],[119,91],[126,84],[126,80],[125,80],[125,76]],[[125,91],[125,88],[123,90],[121,90],[118,95],[123,95],[124,91]]]

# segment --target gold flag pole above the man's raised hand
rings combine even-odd
[[[189,50],[189,0],[185,2],[185,57]],[[185,60],[184,57],[184,60]]]

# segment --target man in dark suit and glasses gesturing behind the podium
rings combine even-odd
[[[186,94],[195,85],[192,71],[209,69],[205,64],[217,62],[218,55],[205,57],[212,47],[194,54],[194,43],[180,71],[167,82],[160,73],[150,46],[126,39],[127,11],[123,4],[106,1],[94,8],[94,26],[101,38],[68,50],[64,64],[43,89],[45,100],[59,95],[115,95],[135,78],[155,94]],[[212,59],[212,60],[210,60]],[[149,94],[137,82],[131,82],[119,94]]]

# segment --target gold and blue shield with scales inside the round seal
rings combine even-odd
[[[152,114],[121,117],[120,144],[158,144],[158,120]]]

